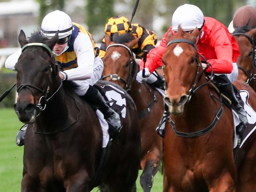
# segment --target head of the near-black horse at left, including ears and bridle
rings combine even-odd
[[[19,43],[22,53],[15,64],[18,98],[14,108],[23,123],[35,121],[37,108],[40,109],[46,104],[46,98],[51,92],[50,85],[54,79],[59,78],[51,55],[57,41],[58,32],[51,39],[35,32],[27,41],[25,33],[20,31]]]

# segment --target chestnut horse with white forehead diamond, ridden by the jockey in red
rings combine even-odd
[[[236,171],[233,157],[233,117],[204,75],[198,35],[198,29],[187,34],[179,26],[177,35],[168,35],[162,57],[167,83],[164,101],[171,113],[165,135],[163,191],[233,192],[237,174],[242,173]],[[256,109],[255,92],[242,81],[237,86],[250,93],[249,103]],[[255,145],[254,134],[244,148],[243,181],[255,178]],[[236,191],[255,190],[236,187]]]

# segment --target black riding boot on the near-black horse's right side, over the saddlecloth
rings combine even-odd
[[[108,130],[109,135],[112,138],[117,138],[122,128],[120,116],[108,106],[100,92],[98,92],[98,89],[90,85],[83,98],[102,112],[104,118],[110,125]]]

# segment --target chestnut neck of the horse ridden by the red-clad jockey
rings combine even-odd
[[[203,83],[206,83],[204,76],[200,78],[197,86]],[[199,131],[213,121],[216,110],[219,110],[219,105],[216,105],[211,98],[210,93],[214,94],[215,91],[209,89],[209,86],[200,88],[192,95],[191,100],[185,104],[182,114],[171,117],[175,120],[178,131]]]

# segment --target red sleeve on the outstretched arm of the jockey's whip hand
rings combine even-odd
[[[156,48],[150,50],[150,52],[147,54],[147,62],[145,63],[145,68],[148,68],[150,73],[154,72],[158,67],[163,65],[162,62],[162,56],[163,53],[165,52],[165,49],[167,48],[167,33],[171,30],[169,30],[165,33],[163,39],[160,41],[160,45],[157,46]],[[143,70],[144,68],[144,61],[143,59],[139,63],[139,68],[140,70]]]

